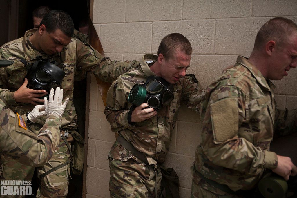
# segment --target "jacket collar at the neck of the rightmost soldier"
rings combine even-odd
[[[246,58],[244,56],[238,56],[236,62],[238,64],[245,66],[252,73],[252,75],[255,77],[255,79],[258,81],[258,83],[260,83],[260,85],[262,85],[264,88],[266,88],[268,91],[270,91],[271,87],[269,85],[270,84],[273,85],[273,83],[271,83],[271,82],[268,83],[268,81],[270,81],[270,80],[267,81],[264,78],[264,76],[262,75],[262,73],[259,71],[259,69],[255,65],[253,65],[251,62],[249,62],[248,58]]]

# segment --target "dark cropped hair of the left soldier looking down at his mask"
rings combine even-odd
[[[71,17],[62,10],[52,10],[48,12],[40,22],[40,26],[45,25],[46,31],[52,33],[60,29],[66,36],[72,37],[74,24]]]

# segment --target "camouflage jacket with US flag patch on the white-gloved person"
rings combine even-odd
[[[26,120],[0,100],[0,153],[28,166],[43,166],[60,143],[61,120],[47,115],[38,137],[27,129]],[[0,175],[2,168],[0,162]]]

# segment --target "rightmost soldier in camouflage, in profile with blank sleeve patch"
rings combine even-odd
[[[295,68],[296,57],[297,25],[274,18],[260,28],[249,59],[238,56],[208,86],[191,197],[249,197],[266,169],[285,180],[296,175],[289,157],[269,151],[274,132],[296,131],[296,110],[276,110],[270,81]]]

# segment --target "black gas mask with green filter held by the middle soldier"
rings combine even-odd
[[[157,76],[149,76],[143,85],[135,84],[128,96],[129,103],[135,106],[147,103],[154,110],[167,106],[173,99],[173,85]]]

